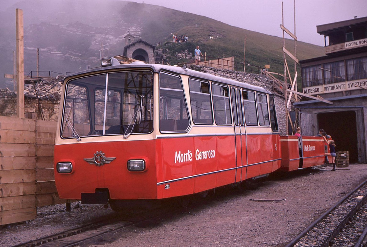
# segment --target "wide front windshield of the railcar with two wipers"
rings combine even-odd
[[[103,73],[66,85],[62,138],[149,133],[153,130],[153,73]]]

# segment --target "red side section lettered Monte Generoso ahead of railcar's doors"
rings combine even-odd
[[[159,186],[169,184],[169,189],[159,189],[163,198],[198,193],[218,184],[235,182],[235,169],[223,171],[236,167],[233,135],[164,138],[157,141],[157,147],[161,147],[161,157],[157,157],[156,162],[160,166],[157,168],[158,182],[163,182]],[[175,181],[171,181],[173,179]],[[184,188],[176,185],[182,184],[182,179],[185,179]]]

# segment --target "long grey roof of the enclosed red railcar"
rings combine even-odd
[[[128,64],[121,64],[121,65],[113,65],[113,66],[106,66],[106,67],[98,67],[98,68],[92,68],[89,70],[84,70],[81,72],[77,72],[74,73],[72,75],[68,75],[65,80],[68,80],[69,77],[74,77],[74,76],[78,76],[78,75],[83,75],[83,74],[87,74],[87,73],[91,73],[91,72],[99,72],[99,71],[113,71],[113,70],[117,70],[117,69],[127,69],[127,68],[149,68],[152,69],[153,72],[160,72],[161,70],[167,71],[167,72],[173,72],[173,73],[178,73],[178,74],[182,74],[182,75],[187,75],[187,76],[192,76],[192,77],[196,77],[196,78],[200,78],[200,79],[206,79],[206,80],[211,80],[211,81],[216,81],[219,83],[226,83],[229,85],[233,85],[233,86],[238,86],[238,87],[243,87],[243,88],[247,88],[250,90],[254,90],[254,91],[259,91],[259,92],[265,92],[268,94],[272,94],[272,92],[270,92],[269,90],[266,90],[265,88],[259,87],[259,86],[254,86],[245,82],[240,82],[240,81],[235,81],[232,79],[228,79],[228,78],[224,78],[224,77],[220,77],[220,76],[214,76],[208,73],[204,73],[204,72],[200,72],[200,71],[196,71],[196,70],[192,70],[192,69],[188,69],[188,68],[183,68],[183,67],[179,67],[179,66],[170,66],[170,65],[162,65],[162,64],[155,64],[155,63],[143,63],[143,62],[132,62],[132,63],[128,63]]]

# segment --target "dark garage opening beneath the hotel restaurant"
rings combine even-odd
[[[336,151],[349,151],[349,162],[358,163],[357,119],[354,111],[317,114],[322,128],[335,141]]]

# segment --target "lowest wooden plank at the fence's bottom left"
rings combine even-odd
[[[0,225],[29,221],[37,216],[37,208],[19,208],[0,212]]]

